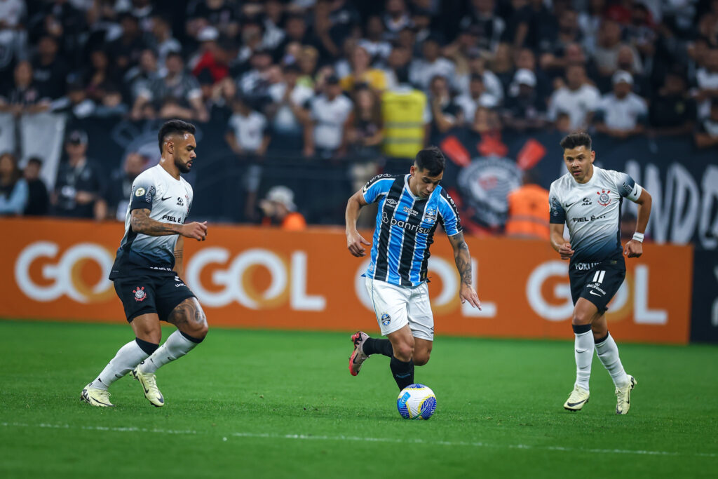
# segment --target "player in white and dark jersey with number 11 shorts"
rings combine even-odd
[[[593,351],[616,386],[616,414],[630,408],[635,378],[623,370],[618,348],[608,332],[606,304],[625,278],[623,256],[643,254],[643,233],[651,215],[651,195],[625,173],[594,166],[591,137],[572,133],[561,140],[569,172],[551,183],[551,246],[570,260],[569,280],[574,302],[572,325],[576,382],[564,408],[579,411],[589,400]],[[621,247],[620,210],[623,198],[638,203],[633,239]],[[569,241],[564,239],[564,224]]]

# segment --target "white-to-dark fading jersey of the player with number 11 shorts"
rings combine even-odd
[[[641,187],[625,173],[593,167],[593,176],[579,183],[567,173],[551,183],[550,222],[569,227],[572,263],[595,263],[622,257],[620,216],[623,197],[638,200]]]

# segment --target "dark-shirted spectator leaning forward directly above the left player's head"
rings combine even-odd
[[[168,99],[172,102],[168,102]],[[153,80],[149,88],[140,90],[132,107],[132,118],[148,118],[144,106],[150,102],[162,118],[179,116],[198,121],[209,119],[207,109],[202,104],[200,85],[195,77],[185,72],[185,62],[179,53],[170,52],[167,55],[167,74],[163,78]],[[164,112],[162,108],[165,108]]]

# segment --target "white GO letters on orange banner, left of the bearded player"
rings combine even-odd
[[[106,301],[113,295],[112,283],[107,279],[113,262],[110,251],[96,243],[78,243],[58,258],[59,252],[57,243],[36,241],[19,254],[15,261],[15,281],[27,297],[50,302],[66,295],[80,303],[93,303]],[[30,270],[40,259],[50,262],[42,265],[42,282],[38,284]],[[90,261],[101,269],[100,279],[95,284],[88,284],[83,276],[83,268]],[[45,284],[48,281],[50,284]]]

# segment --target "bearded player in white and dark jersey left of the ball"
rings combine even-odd
[[[154,372],[189,353],[207,335],[205,313],[182,281],[184,238],[207,238],[206,221],[185,224],[192,187],[181,174],[190,172],[197,157],[195,126],[167,121],[158,138],[162,159],[132,183],[125,235],[110,273],[135,339],[83,389],[80,399],[92,406],[113,406],[108,386],[129,372],[151,404],[164,406]],[[162,346],[160,320],[177,326]]]

